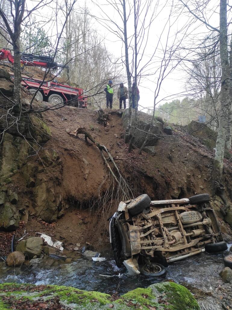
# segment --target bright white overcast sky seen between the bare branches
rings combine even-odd
[[[132,2],[132,0],[128,0],[128,1]],[[153,6],[158,3],[158,1],[153,1],[153,2],[154,2],[152,4]],[[35,2],[31,1],[27,3],[28,5],[29,3],[33,3],[34,5]],[[180,2],[178,0],[175,0],[175,4],[176,3],[180,3]],[[118,25],[123,27],[122,20],[120,20],[117,12],[114,11],[111,5],[107,4],[106,0],[98,0],[97,1],[98,6],[95,5],[91,0],[86,0],[86,4],[92,15],[95,15],[97,17],[100,17],[101,15],[104,16],[104,14],[102,14],[101,12],[101,9],[98,7],[100,6],[112,19],[115,20],[116,23],[118,23]],[[140,67],[143,66],[145,62],[147,61],[147,59],[149,59],[149,56],[154,53],[154,50],[157,47],[157,43],[160,38],[160,42],[158,44],[157,51],[153,57],[152,64],[150,64],[143,71],[144,73],[146,71],[146,73],[150,75],[147,77],[141,78],[140,83],[139,83],[139,90],[140,90],[139,104],[141,104],[143,107],[152,108],[154,104],[154,89],[157,85],[157,74],[154,74],[154,72],[160,68],[160,63],[161,63],[160,61],[161,61],[161,58],[163,57],[162,48],[164,48],[166,45],[168,31],[169,31],[169,38],[167,41],[168,47],[172,46],[174,38],[175,38],[175,44],[177,44],[178,42],[180,42],[180,40],[182,40],[181,46],[184,46],[184,47],[195,46],[195,43],[199,39],[203,38],[208,33],[208,30],[206,29],[205,26],[202,26],[201,22],[193,19],[195,23],[191,24],[192,17],[190,17],[190,15],[186,13],[186,9],[185,10],[182,9],[181,11],[181,8],[177,8],[177,7],[174,7],[174,9],[172,9],[173,15],[170,18],[170,23],[172,24],[172,26],[169,29],[168,24],[166,23],[168,21],[168,16],[170,14],[172,4],[173,2],[171,0],[170,1],[169,0],[159,1],[159,5],[156,9],[157,17],[155,18],[155,20],[153,21],[151,25],[151,29],[150,29],[150,33],[148,37],[148,43],[145,48],[143,59],[141,60]],[[51,5],[54,6],[54,3]],[[76,3],[75,5],[75,11],[78,12],[79,11],[78,7],[84,7],[84,5],[85,5],[85,0],[78,1],[78,3]],[[211,0],[210,1],[211,9],[207,8],[207,17],[209,19],[209,24],[212,24],[214,27],[218,27],[219,25],[218,5],[219,5],[218,0]],[[202,8],[202,11],[204,12],[204,8]],[[131,14],[132,16],[129,18],[127,22],[128,38],[130,37],[130,35],[134,33],[133,11],[131,12]],[[45,20],[46,18],[47,20],[49,20],[49,17],[51,17],[51,15],[54,15],[54,10],[52,10],[51,8],[50,9],[46,8],[46,10],[43,9],[41,18],[42,20]],[[147,20],[147,23],[150,20],[150,15],[151,15],[151,10],[145,17]],[[40,19],[38,15],[37,15],[37,18]],[[49,31],[50,33],[52,32],[54,37],[56,36],[56,33],[57,33],[57,27],[58,27],[58,32],[59,32],[59,29],[61,29],[62,27],[63,18],[62,18],[61,13],[60,13],[60,18],[58,18],[58,20],[60,23],[58,26],[56,26],[54,22],[48,23],[45,26],[46,28],[49,27]],[[166,28],[164,29],[165,24],[166,24]],[[186,30],[185,26],[187,26],[188,24],[190,24],[190,26]],[[98,30],[99,36],[104,39],[106,48],[114,55],[115,59],[119,59],[120,61],[122,57],[122,53],[124,55],[123,43],[116,35],[112,34],[112,32],[110,32],[109,30],[110,28],[115,29],[115,27],[112,24],[109,24],[109,26],[103,26],[102,24],[94,20],[94,18],[92,19],[92,25],[94,29]],[[180,30],[181,32],[177,35],[177,37],[175,37],[176,33]],[[162,32],[163,34],[160,37],[160,34]],[[181,51],[180,53],[181,55],[186,54],[185,51],[184,52]],[[175,64],[175,61],[173,61],[173,64]],[[124,81],[127,86],[125,66],[122,66],[122,73],[125,75]],[[160,94],[157,98],[157,101],[160,101],[160,103],[162,104],[166,101],[171,101],[172,99],[176,99],[176,98],[181,99],[181,96],[178,94],[185,91],[185,76],[186,76],[186,73],[183,72],[182,66],[181,65],[177,66],[177,68],[172,73],[170,73],[167,76],[167,78],[165,78],[165,80],[162,82],[162,85],[160,88]],[[115,92],[116,92],[116,89],[115,89]]]

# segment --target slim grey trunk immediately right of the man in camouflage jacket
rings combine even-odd
[[[123,22],[124,22],[124,44],[125,44],[125,60],[126,60],[126,70],[127,70],[127,83],[128,83],[128,100],[129,100],[129,111],[127,128],[124,135],[125,143],[129,140],[131,121],[132,121],[132,95],[131,95],[131,73],[129,67],[129,56],[128,56],[128,43],[127,43],[127,15],[126,15],[126,1],[123,0]]]

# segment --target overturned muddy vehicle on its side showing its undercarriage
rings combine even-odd
[[[208,194],[151,201],[143,194],[121,201],[109,219],[118,267],[131,274],[162,276],[168,263],[207,251],[227,250]]]

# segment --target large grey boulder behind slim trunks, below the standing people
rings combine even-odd
[[[122,115],[122,121],[123,121],[123,128],[127,128],[127,120],[128,120],[128,111],[129,109],[124,110],[123,115]],[[136,135],[134,139],[134,144],[137,147],[141,147],[144,139],[146,137],[146,133],[149,131],[150,124],[151,124],[151,119],[152,116],[149,114],[146,114],[144,112],[139,111],[138,112],[138,122],[137,122],[137,130],[136,130]],[[130,130],[130,135],[132,135],[134,127],[135,126],[135,114],[133,113],[132,115],[132,128]],[[153,125],[151,127],[150,133],[152,135],[149,135],[149,138],[147,140],[147,143],[145,146],[154,146],[159,137],[155,135],[160,135],[162,134],[163,124],[162,122],[158,121],[156,118],[153,120]]]

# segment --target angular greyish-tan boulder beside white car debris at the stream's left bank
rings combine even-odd
[[[30,237],[20,241],[16,246],[17,251],[23,252],[29,259],[34,256],[39,257],[42,253],[43,240],[40,237]]]

